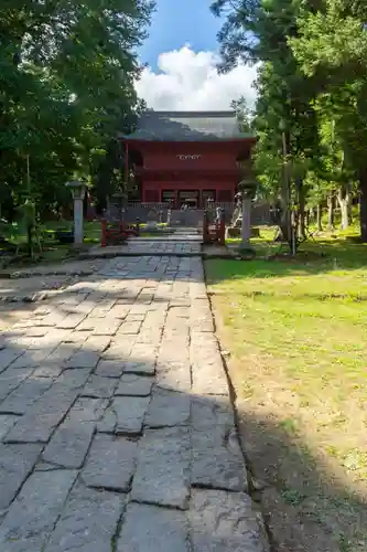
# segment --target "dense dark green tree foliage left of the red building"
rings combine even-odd
[[[111,137],[133,125],[137,47],[150,0],[3,0],[0,4],[0,191],[22,202],[26,156],[43,210],[69,201]],[[2,197],[2,194],[1,194]]]

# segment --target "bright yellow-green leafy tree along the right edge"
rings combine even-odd
[[[328,0],[319,8],[300,12],[299,36],[290,45],[332,106],[344,161],[359,181],[360,236],[367,242],[367,4]]]

